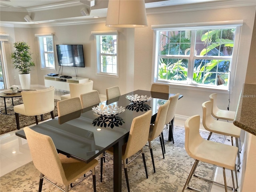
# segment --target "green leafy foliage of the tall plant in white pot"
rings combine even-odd
[[[18,69],[21,74],[29,74],[31,67],[35,66],[32,61],[32,53],[30,52],[30,46],[24,41],[14,42],[14,52],[11,54],[14,68]]]

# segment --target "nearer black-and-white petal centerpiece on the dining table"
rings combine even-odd
[[[114,126],[119,126],[124,123],[124,120],[120,117],[118,117],[118,114],[125,111],[125,107],[122,106],[116,106],[116,105],[100,105],[97,107],[93,107],[92,111],[96,114],[100,115],[98,118],[94,119],[92,124],[94,126],[100,126],[100,127],[111,127],[114,128]]]

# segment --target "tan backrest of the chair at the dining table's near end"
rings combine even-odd
[[[34,166],[46,177],[60,184],[66,183],[66,176],[52,138],[24,128]]]

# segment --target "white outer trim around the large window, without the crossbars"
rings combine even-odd
[[[153,37],[153,59],[152,59],[152,83],[162,83],[162,84],[169,84],[174,86],[175,88],[182,88],[182,89],[192,89],[192,90],[200,90],[200,91],[214,91],[220,93],[232,93],[232,88],[235,85],[235,76],[236,76],[236,67],[237,67],[237,60],[238,54],[232,55],[232,62],[230,68],[230,90],[229,86],[222,87],[222,86],[200,86],[198,84],[179,84],[174,82],[164,82],[164,81],[157,81],[157,67],[155,65],[158,62],[158,57],[156,56],[158,50],[156,50],[156,38],[158,37],[157,32],[158,30],[196,30],[201,29],[202,27],[210,27],[210,28],[230,28],[230,27],[237,27],[236,37],[234,39],[234,48],[233,52],[238,52],[239,49],[239,42],[240,36],[242,31],[242,24],[243,20],[231,20],[231,21],[218,21],[218,22],[200,22],[200,23],[183,23],[183,24],[161,24],[161,25],[152,25],[151,28],[154,30],[154,37]],[[181,56],[182,57],[182,56]],[[188,69],[191,70],[191,69]]]

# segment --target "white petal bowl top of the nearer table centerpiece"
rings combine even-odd
[[[100,105],[97,107],[92,107],[92,111],[102,116],[115,116],[125,111],[125,107],[118,107],[116,105]]]

